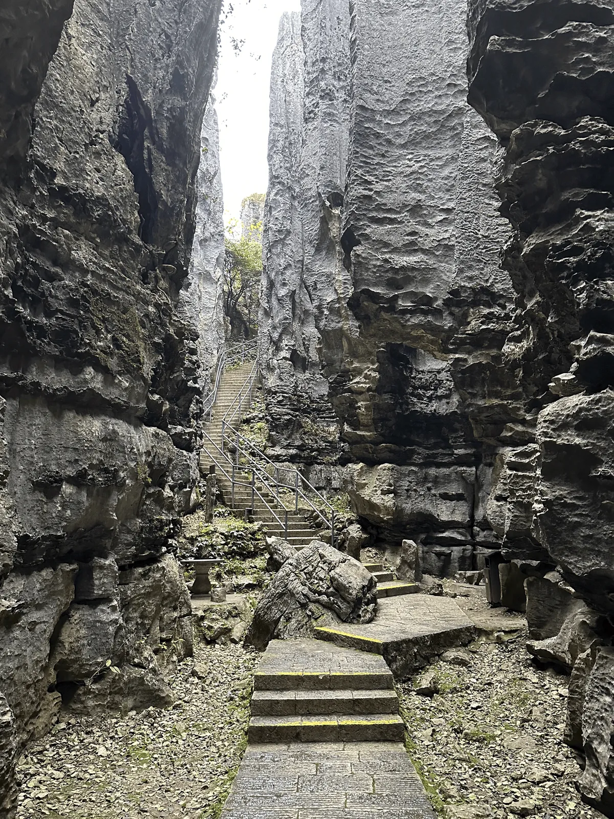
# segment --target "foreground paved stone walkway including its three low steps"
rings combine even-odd
[[[222,819],[435,819],[379,654],[272,640]]]

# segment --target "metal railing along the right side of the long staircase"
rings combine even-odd
[[[297,514],[299,510],[299,499],[303,500],[324,526],[327,528],[330,527],[331,543],[334,545],[334,507],[309,483],[298,469],[288,467],[280,468],[276,464],[273,464],[273,461],[267,458],[264,452],[259,450],[252,441],[242,435],[237,429],[238,423],[241,420],[242,409],[244,406],[249,407],[251,405],[251,398],[257,385],[258,377],[258,364],[256,362],[241,390],[237,393],[233,403],[228,407],[226,414],[223,416],[221,447],[215,446],[219,449],[220,454],[228,460],[228,464],[232,464],[233,475],[239,466],[241,466],[246,472],[251,472],[252,483],[255,483],[257,476],[257,479],[266,487],[269,494],[273,497],[275,504],[284,509],[286,521],[287,507],[285,501],[282,499],[281,493],[285,491],[287,495],[294,495],[295,514]],[[234,455],[234,458],[229,457],[228,451]],[[319,500],[319,506],[311,500],[312,497]],[[324,514],[323,510],[327,511],[328,516]],[[287,524],[285,531],[287,532]]]

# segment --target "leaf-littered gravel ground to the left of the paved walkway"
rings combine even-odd
[[[70,717],[31,744],[18,819],[216,817],[245,748],[258,654],[200,643],[194,651],[171,683],[170,710]]]

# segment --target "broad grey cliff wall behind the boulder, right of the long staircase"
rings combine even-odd
[[[273,120],[271,152],[279,129],[302,130],[298,216],[278,206],[290,187],[296,201],[295,162],[267,218],[302,248],[294,287],[309,301],[282,301],[284,324],[287,254],[269,248],[264,310],[269,327],[289,329],[281,345],[265,333],[261,356],[286,373],[282,400],[269,376],[278,457],[347,464],[359,514],[385,540],[418,539],[426,567],[445,573],[496,540],[485,486],[509,420],[490,385],[510,328],[507,227],[496,140],[465,100],[465,17],[463,0],[304,0],[303,116]],[[282,79],[273,66],[273,102]]]

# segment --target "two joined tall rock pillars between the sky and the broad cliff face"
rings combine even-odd
[[[351,320],[340,245],[350,120],[349,6],[345,0],[305,0],[302,26],[298,16],[289,23],[282,20],[271,80],[261,365],[280,459],[334,464],[338,425],[327,375],[341,355],[341,324]],[[288,63],[282,54],[290,44]],[[287,139],[291,155],[280,162]],[[311,477],[318,482],[322,470]]]

